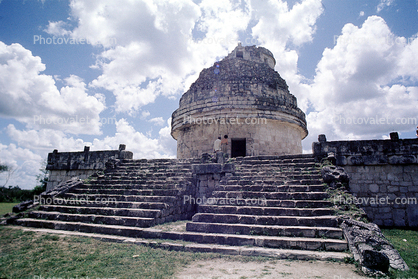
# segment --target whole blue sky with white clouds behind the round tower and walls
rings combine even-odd
[[[32,188],[53,149],[176,156],[171,113],[238,42],[274,54],[328,140],[415,137],[416,0],[2,0],[0,162]],[[0,176],[0,185],[7,174]]]

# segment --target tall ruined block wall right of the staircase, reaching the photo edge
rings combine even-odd
[[[377,225],[418,227],[418,139],[315,142],[347,171],[350,192]]]

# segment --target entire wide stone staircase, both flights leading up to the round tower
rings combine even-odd
[[[196,196],[192,174],[196,163],[125,160],[61,196],[79,204],[41,205],[15,224],[243,249],[348,250],[312,156],[232,159],[235,174],[224,176],[211,203],[199,206],[183,201],[186,195]],[[89,203],[81,203],[83,199]],[[186,219],[191,221],[183,231],[152,228]]]

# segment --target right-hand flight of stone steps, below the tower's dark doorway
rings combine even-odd
[[[221,180],[187,231],[234,235],[229,245],[348,249],[312,156],[243,157],[234,163],[235,175]]]

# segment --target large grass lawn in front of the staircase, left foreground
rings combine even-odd
[[[193,261],[215,258],[267,259],[167,251],[0,227],[0,278],[173,278]]]

